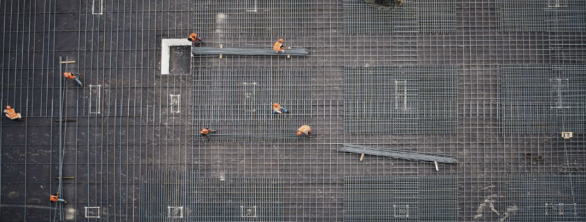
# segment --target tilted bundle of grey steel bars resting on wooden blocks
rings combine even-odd
[[[405,151],[400,149],[381,149],[377,147],[366,147],[362,145],[345,144],[338,151],[369,154],[374,156],[387,156],[393,158],[402,158],[406,160],[438,162],[438,163],[458,163],[456,156],[447,156],[442,154],[426,154],[414,151]]]

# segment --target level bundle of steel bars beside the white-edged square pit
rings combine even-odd
[[[273,49],[261,49],[261,48],[211,48],[211,47],[193,47],[191,50],[193,55],[297,55],[304,56],[308,55],[305,48],[291,48],[285,50],[285,53],[275,53]]]

